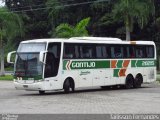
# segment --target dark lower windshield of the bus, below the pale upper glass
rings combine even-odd
[[[42,76],[42,63],[39,62],[39,53],[17,53],[15,76],[36,77]]]

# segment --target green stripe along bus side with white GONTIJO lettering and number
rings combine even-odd
[[[118,60],[117,68],[123,68],[123,61]],[[66,65],[69,60],[63,60],[63,70],[67,70]],[[71,70],[75,69],[98,69],[98,68],[110,68],[111,60],[93,60],[93,61],[76,61],[72,60],[70,66]],[[156,60],[131,60],[131,67],[155,67]],[[116,70],[117,71],[117,70]],[[118,73],[115,73],[118,74]]]

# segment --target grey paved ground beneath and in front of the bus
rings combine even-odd
[[[39,95],[15,90],[11,81],[0,81],[0,114],[156,114],[160,113],[160,84],[139,89],[85,88]]]

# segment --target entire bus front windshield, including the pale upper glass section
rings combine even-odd
[[[43,64],[39,62],[39,53],[44,51],[45,43],[21,43],[17,50],[15,76],[23,79],[40,79],[43,75]]]

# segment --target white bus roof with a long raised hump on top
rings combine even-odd
[[[144,45],[155,45],[153,41],[123,41],[119,38],[111,37],[72,37],[69,39],[65,38],[47,38],[47,39],[34,39],[22,41],[21,43],[40,43],[40,42],[65,42],[65,43],[108,43],[108,44],[144,44]]]

